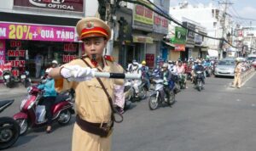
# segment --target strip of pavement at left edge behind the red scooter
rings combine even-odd
[[[8,88],[3,83],[0,83],[0,100],[5,98],[15,98],[26,95],[26,87],[17,84],[16,87]]]

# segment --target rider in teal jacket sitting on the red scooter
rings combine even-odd
[[[44,80],[40,85],[38,85],[38,89],[44,90],[44,99],[43,105],[45,105],[46,117],[47,117],[47,129],[46,132],[51,132],[51,124],[52,124],[52,113],[51,106],[55,103],[56,92],[55,92],[55,81],[51,78],[49,74],[49,70],[45,70]]]

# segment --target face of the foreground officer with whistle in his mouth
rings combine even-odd
[[[90,57],[92,54],[96,54],[96,59],[102,58],[102,53],[107,45],[107,40],[104,37],[88,37],[84,38],[84,50]]]

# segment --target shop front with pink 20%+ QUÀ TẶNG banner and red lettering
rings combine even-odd
[[[1,64],[25,67],[32,77],[36,62],[43,75],[52,60],[65,64],[79,55],[74,27],[0,22],[0,39],[4,46],[1,53],[5,54]],[[19,71],[13,73],[19,76]]]

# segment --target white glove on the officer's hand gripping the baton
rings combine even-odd
[[[79,65],[66,65],[61,69],[61,76],[68,81],[89,81],[93,78],[96,69]]]

